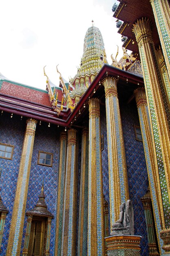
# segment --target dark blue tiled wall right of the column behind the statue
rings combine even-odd
[[[126,164],[128,172],[129,196],[134,207],[135,235],[142,236],[142,256],[148,256],[148,238],[144,208],[140,198],[146,194],[148,174],[141,141],[136,140],[134,125],[140,126],[137,107],[134,103],[121,106],[121,119],[124,133]]]

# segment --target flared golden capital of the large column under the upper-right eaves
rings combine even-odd
[[[135,34],[139,47],[148,42],[152,42],[152,31],[150,29],[151,21],[147,18],[137,20],[133,24],[132,32]]]

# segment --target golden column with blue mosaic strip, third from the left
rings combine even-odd
[[[75,255],[77,193],[77,131],[68,130],[64,209],[62,224],[62,256]]]

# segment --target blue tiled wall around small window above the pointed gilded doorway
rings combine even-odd
[[[35,131],[35,141],[33,147],[33,157],[31,162],[31,172],[29,180],[28,197],[26,202],[26,211],[31,210],[38,201],[38,195],[41,191],[42,180],[44,178],[44,193],[46,195],[45,202],[48,210],[54,215],[51,222],[51,238],[50,238],[50,256],[54,254],[55,243],[55,216],[57,202],[57,179],[60,151],[60,132],[57,127],[47,123],[37,124]],[[44,151],[53,153],[53,166],[38,165],[38,152]],[[24,230],[22,238],[21,252],[24,247],[24,236],[26,232],[26,218],[24,220]]]

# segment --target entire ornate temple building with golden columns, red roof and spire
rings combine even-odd
[[[112,63],[92,24],[70,81],[0,73],[2,256],[170,255],[170,2],[119,2]]]

